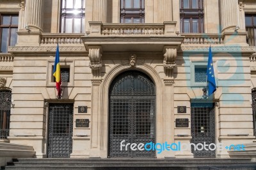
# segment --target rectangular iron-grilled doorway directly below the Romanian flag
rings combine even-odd
[[[73,136],[73,104],[50,104],[47,157],[70,157]]]

